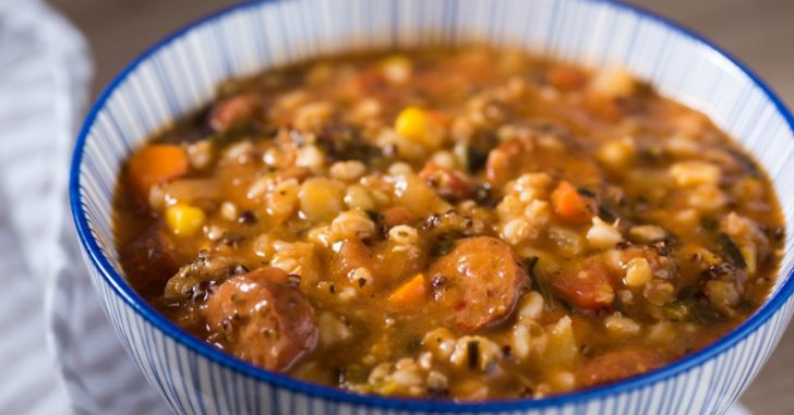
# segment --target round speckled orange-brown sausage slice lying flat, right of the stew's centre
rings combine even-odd
[[[513,313],[529,277],[504,242],[461,240],[429,270],[433,298],[464,333],[503,322]]]

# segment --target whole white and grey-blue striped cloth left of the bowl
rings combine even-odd
[[[112,333],[74,237],[67,184],[89,62],[44,3],[0,1],[0,414],[165,412]]]

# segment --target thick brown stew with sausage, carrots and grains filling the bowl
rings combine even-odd
[[[130,283],[209,344],[381,395],[542,398],[670,364],[765,301],[783,219],[707,117],[512,50],[232,80],[137,149]]]

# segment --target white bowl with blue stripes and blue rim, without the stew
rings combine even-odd
[[[537,401],[455,404],[363,396],[238,361],[192,338],[127,284],[113,246],[119,166],[157,129],[231,76],[351,49],[485,41],[587,65],[618,64],[705,112],[769,171],[794,234],[794,118],[744,65],[697,35],[605,1],[325,0],[246,3],[200,21],[130,64],[80,133],[72,211],[105,310],[148,382],[177,413],[723,413],[758,374],[794,310],[792,237],[766,304],[734,332],[660,370]]]

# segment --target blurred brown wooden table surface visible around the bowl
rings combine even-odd
[[[794,105],[794,0],[635,0],[738,57]],[[230,0],[50,0],[94,52],[94,95],[147,46]],[[755,414],[794,414],[794,330],[742,396]]]

